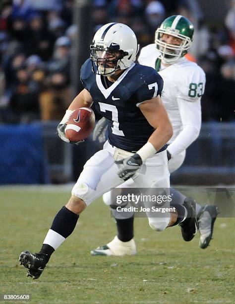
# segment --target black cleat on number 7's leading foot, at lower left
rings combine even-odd
[[[47,254],[31,253],[29,251],[23,251],[19,256],[20,265],[27,268],[27,277],[34,280],[41,276],[48,260]]]

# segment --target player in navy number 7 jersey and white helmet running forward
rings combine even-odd
[[[160,97],[163,80],[153,68],[134,63],[137,52],[135,34],[127,25],[109,23],[94,36],[90,59],[81,68],[84,89],[59,123],[58,134],[69,142],[64,129],[72,111],[94,103],[108,120],[108,141],[85,163],[71,198],[56,215],[40,252],[21,252],[19,261],[33,279],[39,278],[52,253],[72,233],[86,206],[103,193],[129,178],[141,188],[170,187],[166,143],[173,131]],[[169,206],[167,201],[161,207]],[[156,231],[180,223],[188,240],[197,231],[193,203],[178,205],[175,213],[146,215]]]

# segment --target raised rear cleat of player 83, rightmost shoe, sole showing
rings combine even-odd
[[[213,205],[202,207],[197,215],[198,230],[200,233],[199,246],[205,249],[212,239],[215,220],[219,214],[219,209]]]

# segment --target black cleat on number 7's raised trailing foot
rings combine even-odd
[[[196,217],[196,202],[191,197],[186,197],[183,201],[182,206],[187,210],[187,218],[179,223],[178,226],[181,228],[182,237],[186,242],[193,239],[197,233],[197,217]]]

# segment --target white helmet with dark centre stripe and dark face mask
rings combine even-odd
[[[93,72],[111,76],[117,70],[125,70],[131,66],[135,61],[139,45],[135,33],[129,26],[122,23],[108,23],[96,32],[90,49]]]

